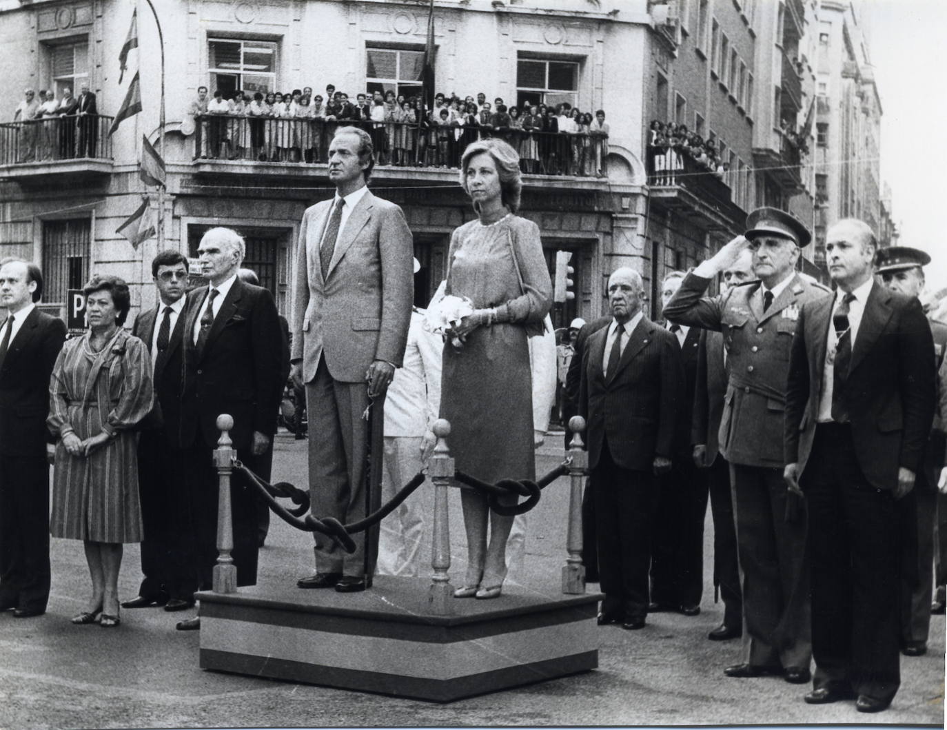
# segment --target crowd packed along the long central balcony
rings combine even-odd
[[[500,137],[519,153],[527,173],[605,175],[609,126],[605,112],[582,112],[569,103],[507,106],[480,93],[459,98],[438,93],[427,111],[419,97],[387,91],[359,93],[354,102],[333,85],[325,95],[311,87],[289,93],[198,89],[189,114],[196,121],[195,156],[270,162],[324,163],[340,125],[372,137],[380,166],[457,168],[468,144]]]

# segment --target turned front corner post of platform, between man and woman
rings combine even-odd
[[[454,589],[447,575],[451,567],[451,531],[448,525],[447,490],[454,479],[454,458],[444,440],[451,433],[451,424],[444,418],[434,423],[434,435],[438,444],[428,460],[427,473],[434,483],[434,541],[431,550],[431,587],[427,593],[428,608],[432,614],[454,613]]]

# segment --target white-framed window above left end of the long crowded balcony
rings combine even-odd
[[[235,91],[267,94],[277,87],[277,44],[234,38],[207,39],[210,92],[224,98]]]

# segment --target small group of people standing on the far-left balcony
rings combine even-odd
[[[72,157],[95,157],[98,146],[96,95],[82,83],[78,97],[63,88],[24,92],[13,112],[12,125],[4,125],[5,158],[9,162],[42,162]],[[27,123],[24,123],[27,122]]]

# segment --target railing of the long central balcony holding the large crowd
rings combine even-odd
[[[467,145],[481,138],[498,137],[519,153],[520,167],[527,173],[604,177],[608,172],[606,134],[485,126],[419,128],[403,122],[272,116],[198,116],[194,159],[324,165],[332,135],[340,126],[359,127],[371,136],[377,166],[456,169]]]

